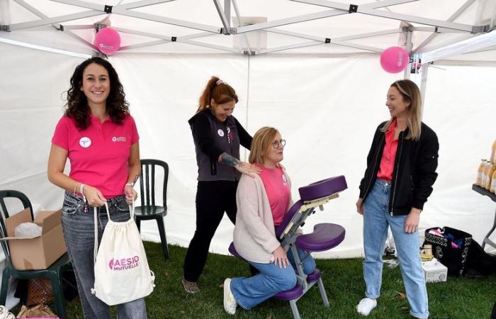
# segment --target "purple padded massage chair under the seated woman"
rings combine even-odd
[[[293,289],[277,293],[273,298],[289,301],[293,316],[300,319],[300,313],[296,306],[296,301],[301,298],[315,283],[317,283],[322,296],[322,301],[326,307],[329,307],[329,301],[325,293],[324,284],[320,278],[320,271],[315,269],[312,274],[305,274],[301,266],[300,258],[296,252],[296,247],[307,252],[324,252],[336,247],[344,240],[345,230],[340,225],[332,223],[320,223],[314,226],[313,233],[299,235],[298,228],[305,223],[305,220],[315,208],[320,207],[323,211],[323,205],[331,199],[337,198],[340,191],[344,191],[348,186],[344,176],[331,177],[322,181],[317,181],[308,186],[298,189],[300,200],[295,202],[284,216],[281,225],[276,227],[276,237],[281,241],[284,250],[292,250],[296,263],[296,277],[298,282]],[[236,252],[234,243],[229,246],[229,252],[242,259]]]

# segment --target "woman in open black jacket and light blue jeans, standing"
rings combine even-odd
[[[382,256],[388,225],[395,239],[410,315],[429,317],[427,289],[419,257],[419,215],[436,181],[439,143],[422,123],[418,86],[399,80],[388,90],[390,120],[381,123],[368,152],[356,211],[363,215],[363,277],[366,298],[356,310],[368,315],[381,293]]]

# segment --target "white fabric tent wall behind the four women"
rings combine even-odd
[[[34,204],[55,209],[62,191],[46,179],[50,139],[62,115],[62,92],[81,58],[0,43],[6,79],[0,86],[0,189],[18,189]],[[237,89],[235,116],[249,133],[273,125],[286,140],[283,161],[298,186],[344,174],[349,189],[308,219],[339,223],[346,239],[319,257],[357,257],[363,252],[358,184],[376,125],[388,118],[388,85],[398,75],[382,71],[378,55],[118,55],[111,57],[125,86],[140,133],[142,158],[169,163],[169,242],[187,246],[195,229],[196,159],[187,120],[208,77]],[[11,72],[15,66],[16,71]],[[494,205],[471,191],[480,158],[494,136],[496,108],[487,99],[493,68],[429,69],[424,121],[439,136],[439,179],[422,213],[421,231],[450,225],[481,242]],[[6,75],[8,74],[8,75]],[[492,120],[494,121],[494,120]],[[245,154],[246,156],[247,154]],[[227,253],[233,226],[222,220],[211,251]],[[158,240],[156,225],[142,223],[145,239]]]

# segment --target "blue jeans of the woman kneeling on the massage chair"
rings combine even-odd
[[[303,261],[303,272],[312,274],[315,271],[315,260],[303,250],[298,249],[298,257]],[[249,310],[259,303],[266,301],[276,293],[293,289],[296,285],[295,260],[291,250],[288,259],[293,267],[279,268],[278,264],[260,264],[249,262],[259,269],[259,274],[252,277],[237,277],[231,281],[231,291],[237,303],[242,308]]]

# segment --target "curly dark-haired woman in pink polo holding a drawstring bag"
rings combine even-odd
[[[94,216],[98,239],[107,224],[129,220],[137,197],[140,147],[135,121],[118,74],[101,57],[78,65],[70,80],[64,116],[57,123],[48,159],[48,179],[65,190],[62,228],[72,259],[84,318],[111,318],[108,306],[91,293],[94,284]],[[64,174],[69,159],[71,170]],[[86,199],[86,202],[84,201]],[[143,298],[117,306],[118,318],[146,318]]]

